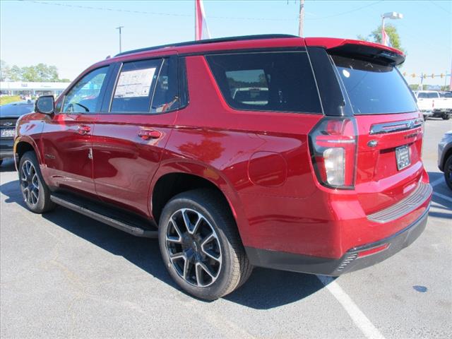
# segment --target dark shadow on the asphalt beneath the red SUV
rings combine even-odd
[[[18,180],[1,185],[0,191],[7,197],[6,203],[18,203],[26,208],[18,189]],[[180,290],[163,266],[157,239],[133,237],[63,207],[42,217],[115,256],[126,258]],[[254,309],[271,309],[309,297],[321,288],[323,284],[315,275],[255,268],[248,282],[225,299]]]

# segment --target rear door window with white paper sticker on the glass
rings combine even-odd
[[[149,112],[161,64],[162,59],[124,63],[114,89],[110,112]]]

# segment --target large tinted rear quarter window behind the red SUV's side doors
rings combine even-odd
[[[306,52],[221,54],[206,58],[232,108],[322,112]]]

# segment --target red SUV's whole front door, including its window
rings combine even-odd
[[[45,121],[44,171],[51,186],[95,195],[91,138],[108,69],[105,66],[83,76],[61,99],[60,112]]]

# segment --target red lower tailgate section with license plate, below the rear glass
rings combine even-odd
[[[366,214],[398,203],[422,179],[423,126],[417,113],[357,116],[356,191]]]

